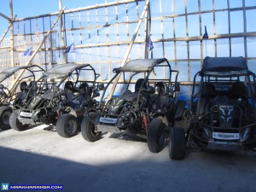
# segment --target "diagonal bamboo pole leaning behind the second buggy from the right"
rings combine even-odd
[[[138,30],[139,30],[139,28],[140,28],[140,26],[141,26],[141,24],[142,24],[142,22],[143,22],[143,18],[144,18],[144,16],[145,16],[146,12],[147,12],[147,10],[148,10],[148,3],[149,3],[149,0],[146,0],[146,2],[145,2],[145,7],[144,7],[144,9],[143,9],[143,13],[142,13],[142,15],[141,15],[141,18],[140,18],[138,24],[137,24],[137,27],[136,27],[135,32],[134,32],[134,34],[133,34],[133,37],[131,38],[131,43],[129,44],[129,47],[128,47],[126,53],[125,53],[125,57],[124,57],[124,59],[123,59],[123,61],[122,61],[121,66],[125,66],[126,61],[127,61],[127,59],[128,59],[128,56],[129,56],[130,53],[131,53],[131,48],[132,48],[132,45],[133,45],[134,42],[135,42],[135,38],[137,37],[137,32],[138,32]],[[119,73],[119,75],[116,77],[116,79],[114,79],[112,88],[111,88],[111,90],[109,91],[109,95],[108,95],[107,102],[108,102],[108,100],[110,100],[111,97],[113,96],[113,91],[114,91],[114,89],[116,88],[116,85],[117,85],[117,83],[118,83],[118,81],[119,81],[120,76],[121,76],[121,73]]]

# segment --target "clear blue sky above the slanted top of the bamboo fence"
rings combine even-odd
[[[114,0],[62,0],[62,5],[66,9],[76,9],[94,5],[97,3],[113,2]],[[17,18],[24,18],[32,15],[44,15],[56,12],[59,9],[59,0],[13,0],[14,15]],[[1,0],[0,13],[9,17],[9,0]],[[8,20],[0,17],[0,37],[9,26]]]

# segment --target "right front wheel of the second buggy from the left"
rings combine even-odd
[[[78,131],[78,119],[73,114],[62,114],[57,121],[56,131],[61,137],[73,137]]]

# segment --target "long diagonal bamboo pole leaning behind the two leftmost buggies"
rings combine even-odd
[[[10,0],[11,1],[11,0]],[[28,61],[26,61],[26,64],[24,66],[28,66],[32,59],[35,57],[35,55],[38,53],[38,50],[41,48],[41,46],[44,44],[44,41],[46,40],[46,38],[49,36],[49,33],[51,32],[51,30],[55,27],[55,24],[58,22],[58,20],[61,18],[61,15],[64,12],[64,9],[66,9],[66,7],[64,7],[60,13],[60,15],[58,15],[58,17],[55,19],[55,22],[53,23],[53,25],[50,27],[49,31],[46,33],[46,35],[44,36],[43,40],[41,41],[41,43],[38,45],[38,48],[35,50],[35,52],[33,52],[32,56],[29,58]],[[13,89],[13,87],[15,86],[16,82],[18,81],[18,79],[20,79],[20,77],[22,76],[22,74],[24,73],[25,69],[21,70],[19,75],[16,77],[15,81],[13,82],[13,84],[11,85],[11,87],[9,88],[10,90]]]

